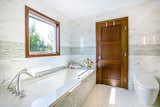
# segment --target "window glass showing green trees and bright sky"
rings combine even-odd
[[[56,25],[29,16],[30,53],[56,52]]]

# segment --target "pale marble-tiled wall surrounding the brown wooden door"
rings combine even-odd
[[[83,61],[83,58],[86,57],[95,59],[96,55],[90,52],[95,53],[93,47],[96,47],[96,22],[128,16],[129,88],[133,89],[133,73],[135,71],[160,72],[157,67],[160,63],[158,60],[160,59],[159,5],[159,0],[148,0],[139,5],[76,19],[76,26],[71,36],[71,44],[74,47],[74,54],[71,58],[76,59],[77,62]],[[85,50],[90,50],[90,55]],[[80,53],[82,54],[80,55]]]

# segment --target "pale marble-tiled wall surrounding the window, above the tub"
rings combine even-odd
[[[60,56],[25,58],[25,5],[60,21]],[[23,68],[38,69],[38,72],[68,64],[72,33],[69,18],[38,0],[0,0],[0,13],[0,83],[8,81]]]

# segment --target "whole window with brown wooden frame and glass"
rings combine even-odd
[[[26,57],[60,55],[60,23],[25,7]]]

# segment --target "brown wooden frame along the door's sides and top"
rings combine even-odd
[[[99,21],[96,22],[96,83],[97,84],[102,84],[102,69],[100,63],[98,62],[98,57],[99,57],[99,26],[101,24],[107,23],[107,26],[113,25],[114,22],[118,22],[119,24],[122,25],[122,30],[125,30],[125,35],[124,39],[122,40],[123,45],[121,45],[122,51],[125,51],[123,53],[123,58],[122,58],[122,64],[124,68],[121,68],[121,88],[126,88],[128,89],[128,17],[121,17],[121,18],[115,18],[115,19],[109,19],[109,20],[104,20],[104,21]],[[122,32],[121,32],[122,33]]]

